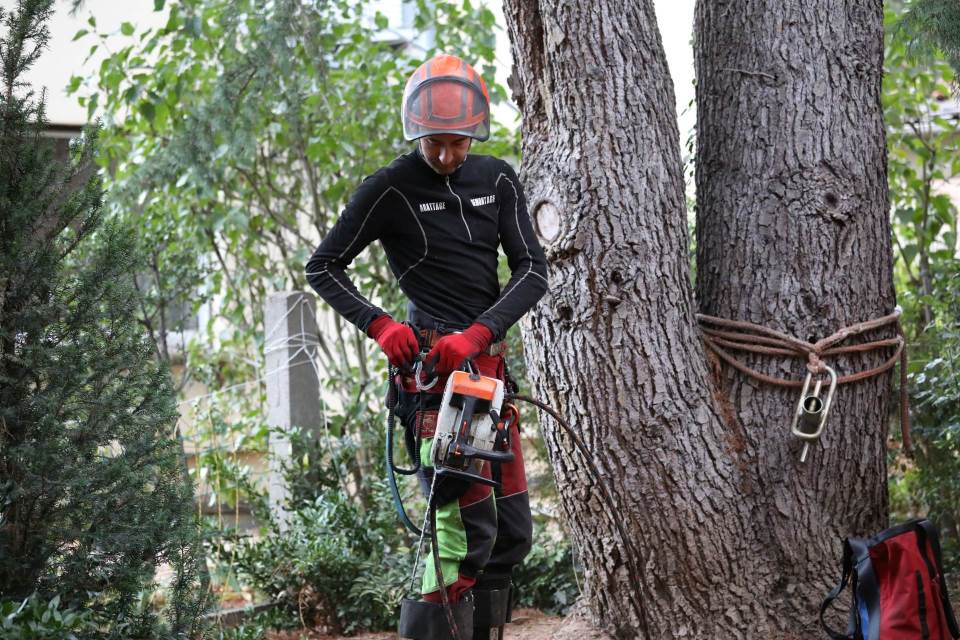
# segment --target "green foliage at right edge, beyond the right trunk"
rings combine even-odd
[[[895,520],[929,516],[939,527],[948,571],[960,571],[960,299],[957,207],[939,186],[960,177],[960,123],[944,107],[956,75],[942,53],[919,58],[908,27],[942,3],[897,3],[886,15],[883,86],[888,168],[897,249],[895,275],[910,344],[913,460],[895,459]],[[906,17],[903,17],[906,16]]]

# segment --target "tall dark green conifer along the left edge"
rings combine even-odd
[[[192,487],[169,372],[136,320],[131,234],[101,224],[97,129],[55,158],[20,80],[50,6],[21,2],[0,41],[0,594],[59,596],[93,617],[88,637],[194,633]],[[168,624],[144,606],[160,562],[175,573]]]

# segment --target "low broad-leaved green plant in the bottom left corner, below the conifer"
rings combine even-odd
[[[60,607],[60,596],[49,602],[30,595],[23,602],[0,602],[0,640],[77,640],[96,625],[90,611]]]

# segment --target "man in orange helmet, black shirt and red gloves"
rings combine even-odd
[[[416,430],[424,440],[421,482],[429,487],[428,452],[446,376],[472,359],[482,375],[505,380],[504,335],[544,294],[547,274],[516,173],[497,158],[468,155],[473,140],[490,134],[489,95],[476,71],[451,55],[425,62],[407,82],[401,117],[404,137],[416,148],[363,181],[306,271],[317,293],[404,371],[397,414],[408,443]],[[416,331],[372,304],[346,275],[375,240],[409,299],[407,320]],[[512,272],[502,290],[498,246]],[[409,370],[422,349],[429,349],[425,368],[440,379],[420,399]],[[443,583],[458,612],[476,604],[476,638],[502,632],[500,603],[509,598],[510,573],[530,550],[516,421],[511,431],[515,461],[499,469],[484,464],[484,475],[502,483],[495,494],[449,478],[435,487]],[[449,627],[429,554],[422,593],[422,603],[401,615],[401,636],[444,637]],[[471,637],[470,629],[461,629],[461,637]]]

